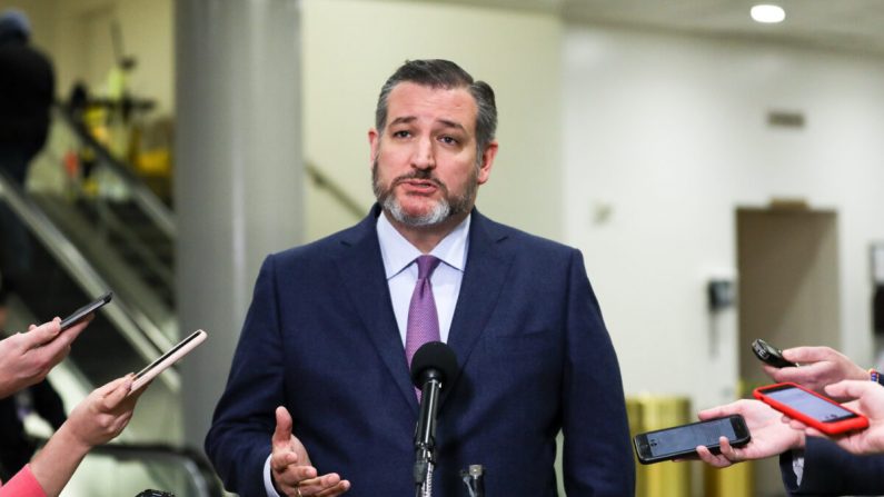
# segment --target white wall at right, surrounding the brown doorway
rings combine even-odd
[[[772,197],[837,210],[844,351],[871,365],[884,60],[600,27],[564,40],[566,238],[587,258],[627,394],[732,399],[748,344],[734,311],[711,321],[704,285],[735,274],[737,206]],[[771,109],[807,125],[769,128]]]

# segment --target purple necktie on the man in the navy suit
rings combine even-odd
[[[428,341],[439,341],[439,316],[436,312],[436,300],[433,298],[433,286],[429,277],[439,266],[440,260],[433,256],[417,258],[417,284],[411,294],[411,304],[408,306],[408,327],[405,331],[405,356],[408,367],[411,358],[421,345]],[[420,391],[417,392],[420,400]]]

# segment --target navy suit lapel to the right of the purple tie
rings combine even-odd
[[[494,222],[477,210],[473,211],[467,266],[448,334],[448,345],[455,351],[460,366],[451,381],[453,388],[487,327],[504,288],[507,271],[513,262],[511,255],[506,254],[499,246],[505,238],[506,235],[499,232]],[[450,390],[444,392],[440,406],[448,397],[448,392]]]

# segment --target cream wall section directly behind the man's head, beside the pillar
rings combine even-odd
[[[491,179],[478,208],[560,238],[560,21],[552,16],[425,2],[305,0],[305,157],[367,211],[368,129],[384,81],[406,59],[443,58],[491,85],[499,112]],[[307,239],[356,219],[308,189]]]

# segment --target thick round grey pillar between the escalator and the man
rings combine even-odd
[[[297,0],[176,2],[177,291],[185,441],[202,448],[264,257],[304,231]]]

